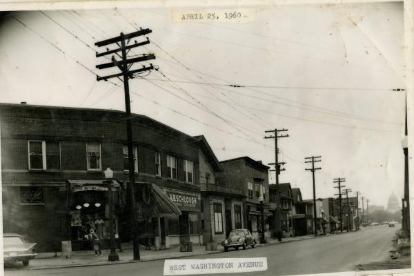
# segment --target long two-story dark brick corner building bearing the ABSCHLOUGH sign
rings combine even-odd
[[[120,187],[129,180],[125,113],[0,104],[0,116],[3,232],[37,242],[39,252],[60,251],[65,240],[76,244],[85,234],[81,226],[86,222],[96,229],[98,225],[91,224],[102,224],[101,235],[105,234],[108,207],[99,193],[105,190],[103,171],[114,172],[117,204],[122,199]],[[199,139],[133,116],[135,188],[157,186],[181,210],[179,216],[141,221],[141,237],[154,244],[161,236],[166,247],[200,242]],[[88,201],[70,205],[68,195]],[[123,212],[115,215],[120,242],[131,237],[128,198]]]

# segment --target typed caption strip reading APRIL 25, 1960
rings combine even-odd
[[[172,10],[172,23],[250,23],[259,21],[257,9]]]

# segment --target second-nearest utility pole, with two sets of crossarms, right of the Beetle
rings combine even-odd
[[[268,137],[264,137],[264,139],[275,139],[275,163],[269,163],[268,165],[275,165],[275,170],[269,170],[270,172],[276,172],[276,207],[277,207],[277,211],[276,211],[276,233],[277,233],[277,240],[279,242],[282,242],[282,224],[280,223],[280,195],[279,195],[279,174],[280,174],[280,166],[282,166],[283,164],[286,164],[286,162],[282,162],[279,163],[278,160],[278,148],[277,148],[277,139],[279,138],[284,138],[284,137],[289,137],[289,135],[278,135],[279,132],[282,131],[288,131],[286,129],[282,129],[282,130],[266,130],[265,132],[273,132],[275,136],[268,136]],[[285,169],[282,169],[285,170]],[[264,231],[264,229],[262,229],[262,231]]]

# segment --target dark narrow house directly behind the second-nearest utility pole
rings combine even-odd
[[[270,192],[270,212],[273,214],[270,229],[273,237],[277,237],[277,188],[275,184],[269,185]],[[279,184],[279,205],[280,205],[280,224],[284,237],[293,236],[293,192],[290,183]]]

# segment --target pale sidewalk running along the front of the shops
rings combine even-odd
[[[319,236],[327,237],[327,236]],[[274,244],[283,244],[286,242],[302,241],[304,239],[313,239],[315,236],[302,236],[302,237],[288,237],[282,239],[282,242],[277,242],[277,239],[270,239],[270,244],[257,244],[257,246],[268,246]],[[179,252],[179,248],[165,249],[165,250],[145,250],[139,251],[141,259],[139,261],[133,260],[132,249],[119,252],[119,262],[108,262],[109,250],[103,250],[103,256],[95,257],[95,252],[90,251],[85,254],[72,255],[70,259],[66,257],[50,257],[50,258],[36,258],[30,260],[30,264],[27,267],[22,266],[21,262],[16,264],[7,265],[10,268],[24,269],[24,270],[38,270],[38,269],[50,269],[50,268],[70,268],[79,266],[103,266],[112,264],[127,264],[132,262],[150,262],[159,259],[179,259],[182,257],[196,257],[201,255],[210,255],[224,252],[224,248],[221,245],[217,245],[217,250],[207,251],[206,246],[193,246],[193,252]]]

